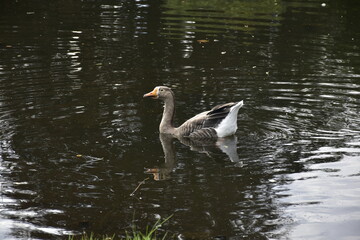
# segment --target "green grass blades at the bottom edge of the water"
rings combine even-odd
[[[90,235],[83,234],[81,236],[69,236],[68,240],[165,240],[167,239],[167,232],[162,238],[158,238],[157,230],[161,227],[162,224],[164,224],[166,221],[168,221],[170,217],[165,218],[164,220],[157,220],[156,223],[150,228],[149,226],[146,227],[145,233],[139,231],[136,229],[136,227],[133,227],[131,232],[126,232],[125,237],[121,238],[115,238],[115,235],[112,237],[109,236],[102,236],[102,237],[95,237],[93,233]]]

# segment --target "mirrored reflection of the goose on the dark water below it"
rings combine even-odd
[[[226,154],[231,162],[242,166],[242,162],[237,154],[237,138],[230,136],[226,138],[209,138],[209,139],[191,139],[176,138],[168,134],[159,135],[160,142],[164,151],[165,163],[159,168],[148,168],[146,173],[152,174],[154,180],[167,180],[176,165],[174,139],[178,139],[182,144],[189,146],[192,151],[204,153],[212,158],[212,155]]]

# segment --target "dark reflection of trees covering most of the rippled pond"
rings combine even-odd
[[[143,137],[154,139],[157,128],[156,121],[147,121],[157,117],[149,107],[155,103],[139,97],[166,83],[176,88],[183,119],[215,103],[247,98],[252,110],[242,127],[255,137],[240,140],[243,168],[220,163],[213,169],[206,156],[188,154],[194,163],[183,163],[171,184],[144,190],[150,200],[134,205],[162,215],[176,209],[173,228],[192,231],[190,236],[200,226],[208,236],[230,232],[258,239],[281,227],[273,187],[283,179],[277,177],[303,171],[296,160],[317,147],[310,141],[286,148],[284,139],[323,127],[336,114],[336,124],[349,115],[356,122],[358,108],[351,103],[358,98],[346,96],[346,89],[358,87],[357,56],[347,60],[336,46],[345,38],[349,53],[357,48],[357,38],[342,34],[356,32],[349,29],[357,26],[358,16],[348,2],[340,7],[350,13],[323,9],[320,18],[314,3],[267,3],[1,2],[0,16],[9,26],[0,40],[0,111],[7,124],[1,137],[14,149],[2,156],[9,182],[28,183],[6,193],[19,200],[14,209],[64,211],[57,222],[46,214],[26,219],[44,226],[79,229],[88,222],[98,232],[126,226],[126,219],[114,226],[106,218],[131,219],[126,194],[119,193],[131,192],[143,178],[141,161],[147,157],[140,150],[153,147]],[[204,39],[209,42],[196,41]],[[343,64],[334,64],[337,60]],[[340,86],[319,84],[331,82]],[[329,94],[338,96],[341,106],[316,101]],[[345,102],[350,104],[343,108]],[[190,108],[189,103],[198,104]],[[28,188],[33,193],[24,194]],[[102,219],[99,209],[106,212]]]

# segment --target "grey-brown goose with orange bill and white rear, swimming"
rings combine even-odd
[[[217,105],[209,111],[197,114],[176,128],[173,124],[175,96],[169,87],[157,86],[143,97],[151,97],[164,102],[159,131],[175,137],[223,138],[233,135],[237,130],[239,109],[244,105],[243,101]]]

